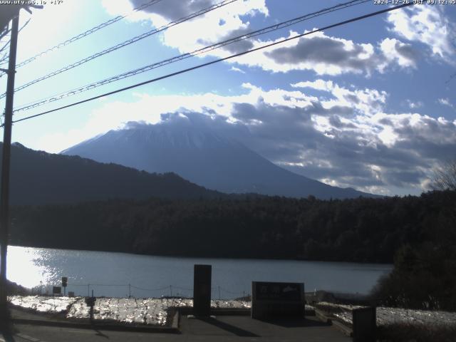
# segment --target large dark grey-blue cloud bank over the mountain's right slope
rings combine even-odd
[[[263,92],[264,99],[256,96],[255,104],[232,104],[237,123],[219,115],[217,108],[168,113],[162,121],[207,128],[300,175],[358,190],[418,192],[435,162],[456,155],[456,125],[449,121],[418,114],[379,114],[383,118],[378,119],[340,105],[325,109],[318,100],[299,108],[291,104],[305,95],[296,92],[284,91],[281,99],[286,102],[279,100],[281,105],[269,103],[268,92]],[[274,93],[274,100],[277,96]],[[316,117],[323,124],[317,125]],[[385,129],[391,131],[388,145],[376,134]]]

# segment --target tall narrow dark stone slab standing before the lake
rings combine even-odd
[[[193,278],[193,314],[209,317],[211,314],[211,265],[195,265]]]

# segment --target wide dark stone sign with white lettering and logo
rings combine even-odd
[[[252,318],[304,318],[304,284],[252,281]]]

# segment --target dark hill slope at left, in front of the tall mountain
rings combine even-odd
[[[0,155],[3,144],[0,142]],[[1,164],[1,159],[0,159]],[[73,203],[110,198],[199,198],[222,194],[168,173],[11,146],[11,204]]]

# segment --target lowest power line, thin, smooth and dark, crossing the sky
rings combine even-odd
[[[363,20],[363,19],[367,19],[367,18],[370,18],[371,16],[377,16],[378,14],[383,14],[383,13],[386,13],[386,12],[389,12],[389,11],[394,11],[395,9],[402,9],[403,7],[406,7],[406,6],[412,6],[413,5],[413,2],[410,2],[409,4],[402,4],[402,5],[398,5],[398,6],[394,6],[394,7],[390,7],[388,9],[383,9],[383,10],[380,10],[380,11],[375,11],[375,12],[371,12],[369,14],[365,14],[363,16],[357,16],[356,18],[352,18],[352,19],[348,19],[346,21],[340,21],[336,24],[332,24],[332,25],[328,25],[328,26],[324,26],[322,28],[316,28],[315,30],[313,31],[309,31],[309,32],[306,32],[306,33],[301,33],[301,34],[298,34],[296,36],[293,36],[293,37],[289,37],[289,38],[284,38],[282,39],[281,41],[276,41],[274,43],[269,43],[269,44],[266,44],[264,46],[259,46],[258,48],[252,48],[251,50],[248,50],[248,51],[243,51],[241,53],[236,53],[234,55],[231,55],[231,56],[227,56],[227,57],[224,57],[224,58],[219,58],[219,59],[216,59],[214,61],[210,61],[210,62],[207,62],[207,63],[202,63],[202,64],[199,64],[198,66],[193,66],[192,68],[186,68],[186,69],[183,69],[183,70],[180,70],[180,71],[176,71],[175,73],[168,73],[167,75],[165,76],[160,76],[160,77],[157,77],[157,78],[152,78],[151,80],[148,80],[148,81],[144,81],[144,82],[140,82],[140,83],[136,83],[134,84],[133,86],[128,86],[128,87],[125,87],[125,88],[120,88],[118,90],[113,90],[113,91],[110,91],[108,93],[104,93],[102,95],[97,95],[97,96],[93,96],[92,98],[86,98],[85,100],[81,100],[81,101],[78,101],[78,102],[75,102],[75,103],[71,103],[69,105],[63,105],[62,107],[59,107],[59,108],[54,108],[52,110],[46,110],[46,112],[43,112],[43,113],[38,113],[38,114],[35,114],[35,115],[30,115],[30,116],[27,116],[25,118],[21,118],[19,120],[14,120],[13,123],[19,123],[21,121],[24,121],[24,120],[28,120],[28,119],[31,119],[31,118],[37,118],[38,116],[42,116],[42,115],[46,115],[48,113],[53,113],[53,112],[56,112],[58,110],[62,110],[62,109],[65,109],[65,108],[70,108],[70,107],[73,107],[74,105],[80,105],[82,103],[86,103],[86,102],[89,102],[89,101],[92,101],[92,100],[97,100],[98,98],[103,98],[104,96],[108,96],[108,95],[113,95],[115,93],[120,93],[122,91],[125,91],[125,90],[130,90],[130,89],[133,89],[133,88],[137,88],[139,86],[144,86],[145,84],[149,84],[149,83],[153,83],[153,82],[157,82],[157,81],[161,81],[165,78],[170,78],[172,76],[177,76],[177,75],[180,75],[181,73],[187,73],[189,71],[193,71],[193,70],[196,70],[196,69],[199,69],[199,68],[202,68],[204,66],[210,66],[214,63],[219,63],[219,62],[222,62],[222,61],[227,61],[231,58],[235,58],[235,57],[239,57],[239,56],[244,56],[246,55],[247,53],[252,53],[254,51],[259,51],[259,50],[262,50],[264,48],[269,48],[271,46],[276,46],[276,45],[279,45],[281,43],[285,43],[286,41],[291,41],[291,40],[294,40],[296,38],[301,38],[301,37],[304,37],[304,36],[308,36],[309,34],[312,34],[312,33],[316,33],[316,32],[321,32],[321,31],[324,31],[324,30],[328,30],[329,28],[334,28],[334,27],[337,27],[337,26],[342,26],[342,25],[345,25],[345,24],[349,24],[349,23],[353,23],[354,21],[360,21],[360,20]]]

